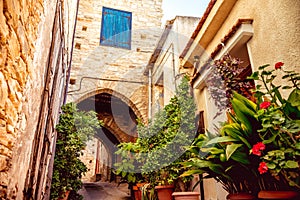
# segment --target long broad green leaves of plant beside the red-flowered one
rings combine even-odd
[[[258,173],[253,163],[258,158],[249,155],[252,145],[259,140],[255,136],[260,127],[254,117],[256,104],[233,92],[232,107],[234,114],[228,113],[229,120],[221,126],[219,136],[200,135],[190,146],[194,157],[183,163],[186,172],[182,176],[208,174],[205,178],[216,179],[229,193],[257,193]]]

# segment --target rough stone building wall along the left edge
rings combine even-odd
[[[75,1],[0,1],[0,199],[48,197],[74,8]]]

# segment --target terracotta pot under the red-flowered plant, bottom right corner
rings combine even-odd
[[[267,191],[262,190],[258,193],[259,199],[295,199],[299,200],[300,195],[295,191]]]

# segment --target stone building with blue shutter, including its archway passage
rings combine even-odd
[[[82,159],[85,181],[113,180],[120,142],[137,137],[148,120],[148,77],[143,74],[161,34],[162,0],[81,0],[68,101],[93,110],[104,127]]]

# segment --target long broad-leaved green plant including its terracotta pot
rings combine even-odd
[[[241,96],[234,93],[233,109],[238,112],[240,107],[236,104],[240,100],[237,98]],[[244,100],[248,101],[246,98]],[[256,138],[233,115],[220,128],[219,133],[219,136],[210,133],[199,135],[189,149],[193,152],[193,158],[183,162],[186,171],[182,176],[202,174],[204,178],[214,178],[229,193],[227,199],[235,199],[236,196],[254,199],[259,190],[256,181],[258,173],[252,166],[256,158],[248,155],[251,143],[255,143]]]

